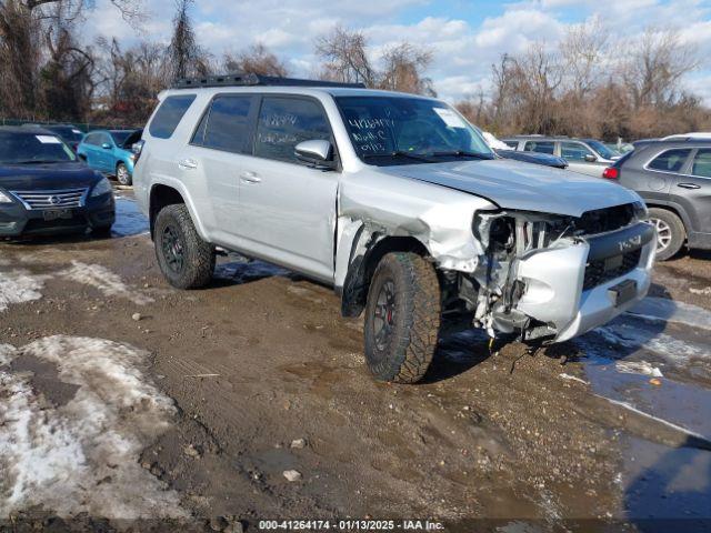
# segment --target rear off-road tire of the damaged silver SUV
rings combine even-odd
[[[178,270],[170,266],[163,249],[167,229],[181,247],[183,261]],[[210,283],[214,272],[214,248],[200,238],[183,203],[160,210],[153,235],[158,264],[171,285],[177,289],[200,289]]]

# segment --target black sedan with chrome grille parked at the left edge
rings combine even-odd
[[[109,180],[54,133],[0,128],[0,238],[108,234],[116,219]]]

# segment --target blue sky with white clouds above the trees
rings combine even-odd
[[[149,18],[133,28],[110,0],[97,0],[87,37],[168,40],[173,0],[144,1]],[[644,28],[670,27],[697,48],[702,66],[685,83],[711,104],[711,0],[197,0],[192,16],[201,46],[216,58],[262,42],[294,76],[317,70],[313,41],[337,23],[363,31],[373,53],[402,40],[427,46],[434,52],[428,74],[448,100],[488,90],[491,64],[502,53],[521,52],[535,41],[553,46],[571,26],[593,17],[620,41],[620,53],[624,40]]]

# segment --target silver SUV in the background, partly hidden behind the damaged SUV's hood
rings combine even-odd
[[[503,142],[519,152],[558,155],[568,162],[568,170],[595,178],[602,178],[604,169],[622,157],[597,139],[517,135],[503,139]]]

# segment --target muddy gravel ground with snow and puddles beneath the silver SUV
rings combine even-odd
[[[711,525],[711,255],[537,353],[452,329],[394,385],[326,286],[230,254],[170,288],[123,197],[111,239],[0,242],[0,527]]]

